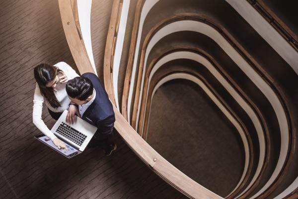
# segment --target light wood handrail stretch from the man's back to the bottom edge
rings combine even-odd
[[[202,187],[160,156],[127,122],[114,104],[113,106],[116,116],[115,128],[118,133],[157,175],[189,198],[221,199],[220,196]]]

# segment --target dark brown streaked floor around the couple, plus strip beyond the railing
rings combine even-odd
[[[75,68],[58,0],[0,1],[0,198],[176,199],[118,137],[111,157],[98,148],[66,159],[33,138],[33,67],[65,61]],[[92,45],[99,77],[112,0],[93,0]],[[44,121],[54,121],[44,109]]]

